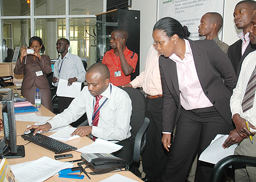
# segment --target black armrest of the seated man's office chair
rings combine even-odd
[[[141,147],[142,138],[144,136],[144,141],[146,141],[146,130],[148,128],[148,125],[150,124],[150,120],[145,117],[144,122],[139,129],[138,133],[136,134],[135,141],[134,141],[134,151],[133,151],[133,162],[139,162],[139,156],[141,156],[141,149],[144,149],[145,142],[143,143],[143,146]]]

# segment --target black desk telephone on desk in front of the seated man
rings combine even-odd
[[[102,154],[101,154],[102,155]],[[81,158],[84,162],[89,164],[89,167],[95,173],[105,173],[109,171],[117,170],[117,168],[125,168],[125,170],[129,169],[129,163],[121,158],[118,158],[112,154],[107,154],[110,156],[99,156],[97,158],[93,158],[88,162],[88,155],[82,153]],[[87,159],[87,160],[86,160]]]

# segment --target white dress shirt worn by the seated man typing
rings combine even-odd
[[[89,125],[92,126],[93,136],[111,141],[129,138],[131,136],[131,99],[126,91],[113,84],[110,89],[110,84],[101,94],[103,97],[99,101],[100,106],[106,98],[108,100],[100,109],[98,126],[92,126],[95,97],[90,95],[88,87],[85,86],[67,109],[48,121],[52,129],[69,125],[86,112]]]

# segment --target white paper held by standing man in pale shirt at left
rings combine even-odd
[[[56,94],[57,96],[63,96],[68,98],[76,98],[81,92],[82,83],[73,82],[71,86],[68,86],[68,81],[65,79],[59,79]]]

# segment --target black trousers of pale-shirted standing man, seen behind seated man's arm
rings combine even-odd
[[[59,99],[59,103],[58,103],[58,107],[59,107],[59,112],[63,112],[65,109],[68,108],[69,104],[72,102],[73,99],[75,98],[66,98],[66,97],[61,97],[58,96]],[[85,120],[87,120],[87,115],[86,113],[84,113],[84,115],[82,115],[77,121],[72,122],[70,125],[73,127],[77,127],[78,125],[80,125],[82,122],[84,122]]]

